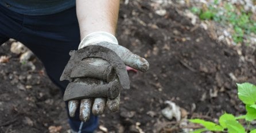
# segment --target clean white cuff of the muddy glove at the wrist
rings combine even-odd
[[[83,40],[79,44],[78,49],[82,49],[88,45],[98,44],[99,42],[103,41],[118,45],[117,38],[115,38],[113,34],[107,32],[93,32],[83,38]]]

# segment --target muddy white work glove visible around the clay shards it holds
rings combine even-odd
[[[101,43],[101,42],[109,42],[109,43]],[[122,59],[125,65],[137,69],[141,72],[146,72],[149,69],[149,63],[145,58],[139,57],[136,54],[130,52],[130,50],[125,47],[118,45],[117,38],[115,38],[112,34],[107,32],[94,32],[88,34],[88,36],[84,37],[83,40],[79,44],[78,49],[82,49],[85,46],[89,45],[99,45],[106,47],[108,49],[113,50],[117,55]],[[105,60],[101,58],[91,58],[89,62],[97,65],[104,62]],[[106,62],[106,61],[105,61]],[[106,62],[107,63],[107,62]],[[97,71],[97,70],[95,70]],[[129,80],[129,79],[128,79]],[[98,82],[99,83],[99,82]],[[103,81],[101,82],[103,84]],[[106,99],[103,97],[98,97],[95,99],[81,99],[80,100],[80,119],[86,122],[90,119],[90,113],[94,115],[100,115],[104,112],[105,107],[107,106],[110,111],[114,112],[119,109],[120,94],[115,99]],[[68,103],[69,115],[71,117],[75,116],[75,111],[79,107],[79,100],[70,100]]]

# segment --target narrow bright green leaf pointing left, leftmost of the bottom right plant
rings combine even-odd
[[[205,120],[201,120],[201,119],[191,119],[189,120],[192,123],[199,123],[201,125],[203,125],[205,128],[207,128],[207,130],[211,130],[211,131],[223,131],[224,128],[222,126],[219,126],[216,123],[213,122],[208,122]]]

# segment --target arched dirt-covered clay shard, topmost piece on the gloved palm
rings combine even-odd
[[[111,45],[108,42],[103,43],[105,43],[105,45]],[[130,88],[130,80],[126,71],[125,64],[123,63],[122,59],[115,52],[113,52],[113,50],[103,46],[91,45],[86,46],[83,49],[72,51],[69,54],[71,55],[71,58],[68,61],[68,64],[66,65],[60,80],[72,81],[70,77],[72,70],[76,68],[77,65],[79,65],[80,61],[82,61],[84,58],[94,57],[102,58],[103,60],[108,61],[115,68],[122,88]]]

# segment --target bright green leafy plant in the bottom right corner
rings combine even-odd
[[[238,98],[245,104],[246,115],[235,117],[232,114],[224,113],[219,118],[219,124],[214,122],[208,122],[202,119],[191,119],[192,123],[199,123],[205,128],[200,128],[193,131],[199,133],[203,131],[220,131],[220,132],[239,132],[239,133],[256,133],[256,129],[250,128],[250,122],[256,120],[256,86],[250,83],[237,84],[238,86]],[[245,119],[247,128],[243,127],[238,119]]]

